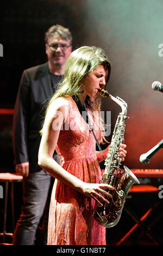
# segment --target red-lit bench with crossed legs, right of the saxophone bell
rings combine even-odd
[[[129,190],[129,194],[131,193],[153,193],[153,192],[158,192],[158,187],[152,186],[152,185],[133,185],[131,186],[130,190]],[[136,227],[140,226],[140,228],[143,230],[143,233],[146,233],[146,235],[149,237],[149,239],[152,240],[152,242],[154,243],[154,245],[159,245],[160,242],[157,241],[154,238],[154,235],[151,232],[151,226],[147,227],[144,223],[143,220],[145,220],[145,218],[147,218],[147,216],[152,212],[152,210],[155,208],[156,204],[154,204],[150,209],[147,210],[147,212],[141,217],[137,217],[135,212],[133,212],[129,206],[127,204],[124,205],[124,210],[127,212],[127,214],[133,218],[133,220],[136,222],[136,224],[127,232],[126,235],[124,235],[122,237],[122,239],[120,239],[120,241],[118,241],[116,243],[116,245],[121,245],[121,243],[124,242],[124,240],[127,239],[127,237],[136,229]],[[161,216],[162,217],[162,216]]]

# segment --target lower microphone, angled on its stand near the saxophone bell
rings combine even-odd
[[[163,148],[163,139],[158,144],[155,145],[151,150],[149,150],[147,153],[142,154],[140,156],[140,162],[141,163],[149,163],[152,156],[154,156],[161,148]]]

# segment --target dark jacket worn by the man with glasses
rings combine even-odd
[[[47,99],[53,95],[48,63],[24,70],[17,93],[13,148],[15,164],[29,162],[29,172],[38,172],[39,133],[45,116]]]

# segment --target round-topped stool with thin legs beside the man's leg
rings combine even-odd
[[[1,245],[5,244],[5,236],[13,237],[15,228],[15,218],[14,218],[14,183],[21,182],[23,176],[16,173],[0,173],[0,182],[5,183],[5,193],[4,193],[4,212],[3,212],[3,232],[0,234],[3,236]],[[7,222],[7,205],[8,205],[8,187],[9,182],[11,183],[11,213],[12,213],[12,231],[13,233],[7,233],[6,222]]]

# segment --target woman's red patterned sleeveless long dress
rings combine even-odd
[[[56,151],[67,172],[88,183],[99,183],[101,169],[96,141],[76,102],[68,96],[68,115]],[[88,109],[89,112],[89,109]],[[89,114],[93,128],[93,119]],[[95,130],[98,137],[98,131]],[[48,221],[48,245],[106,245],[105,227],[92,217],[95,200],[55,179]]]

